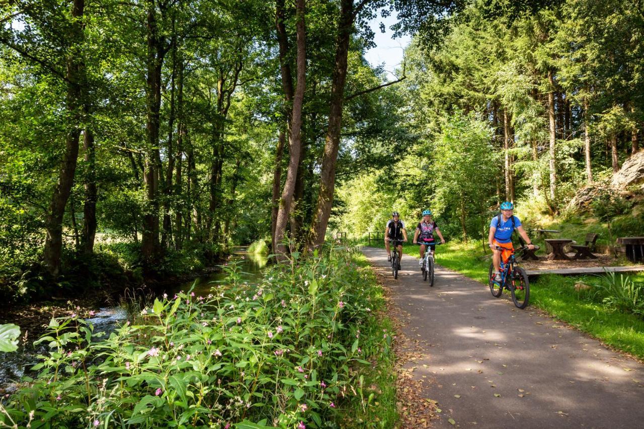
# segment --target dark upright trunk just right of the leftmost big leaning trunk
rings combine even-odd
[[[94,148],[94,134],[90,129],[83,131],[83,149],[87,173],[85,176],[85,202],[83,205],[84,223],[82,225],[81,251],[84,254],[94,253],[94,240],[96,238],[96,154]]]

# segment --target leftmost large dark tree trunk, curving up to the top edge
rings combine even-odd
[[[83,14],[85,8],[84,0],[73,0],[71,8],[71,45],[82,52],[79,46],[83,40]],[[67,136],[65,138],[65,151],[62,156],[61,171],[58,182],[53,189],[52,202],[49,205],[45,218],[45,229],[47,235],[44,242],[43,262],[48,272],[56,277],[61,271],[62,253],[62,218],[65,206],[70,197],[73,186],[76,164],[79,153],[79,128],[82,120],[82,86],[84,85],[84,62],[76,55],[68,55],[66,70],[67,97],[66,108],[69,113],[67,124]]]

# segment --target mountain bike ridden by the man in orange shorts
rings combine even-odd
[[[516,250],[522,250],[525,247],[522,246]],[[500,251],[507,250],[500,246],[495,246],[495,249]],[[539,247],[535,246],[535,250],[539,250]],[[527,279],[526,270],[518,266],[518,261],[515,258],[515,249],[511,250],[506,262],[503,262],[503,258],[501,258],[500,269],[501,281],[497,282],[494,280],[494,264],[491,263],[489,265],[488,282],[489,291],[492,292],[492,296],[498,298],[503,293],[503,289],[507,289],[510,291],[512,301],[516,307],[525,309],[530,299],[530,282]]]

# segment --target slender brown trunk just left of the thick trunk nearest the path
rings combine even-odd
[[[275,222],[275,238],[273,248],[278,260],[285,260],[286,247],[283,243],[286,232],[287,221],[289,220],[290,203],[293,198],[295,182],[298,175],[299,155],[301,151],[301,127],[302,127],[302,107],[304,100],[304,89],[306,84],[306,31],[305,31],[305,1],[296,1],[296,31],[298,34],[297,41],[297,70],[298,81],[293,96],[293,113],[290,127],[290,159],[287,170],[286,182],[279,201],[278,217]]]

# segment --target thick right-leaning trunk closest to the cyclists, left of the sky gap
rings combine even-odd
[[[362,3],[363,5],[365,3]],[[336,60],[331,83],[331,98],[328,114],[327,137],[325,139],[320,189],[317,194],[316,211],[311,222],[309,247],[318,247],[324,243],[327,233],[328,218],[331,215],[336,182],[337,151],[340,145],[342,129],[342,109],[346,82],[347,57],[351,33],[354,28],[354,4],[352,0],[341,0],[340,16],[337,28]]]

